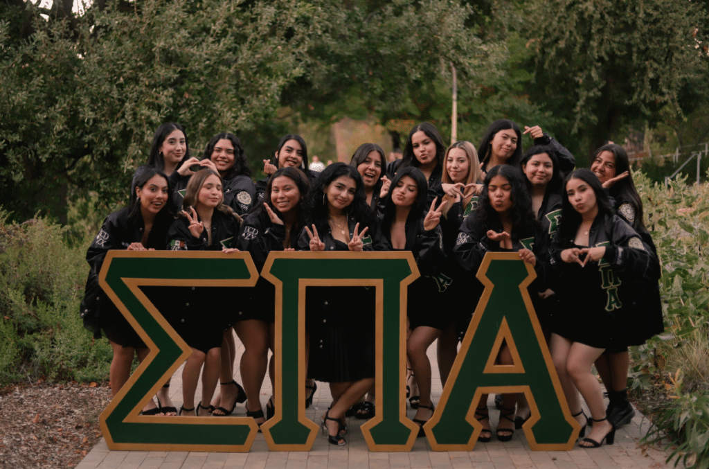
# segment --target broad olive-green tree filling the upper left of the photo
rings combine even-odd
[[[125,201],[164,121],[183,123],[199,155],[213,133],[271,118],[317,33],[295,0],[125,6],[37,14],[27,38],[2,24],[0,197],[15,219],[65,221],[68,190]]]

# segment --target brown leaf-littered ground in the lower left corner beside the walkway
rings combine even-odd
[[[73,468],[101,439],[107,385],[76,382],[0,390],[0,468]]]

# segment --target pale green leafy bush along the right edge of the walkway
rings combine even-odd
[[[674,399],[652,415],[645,443],[666,441],[688,468],[709,468],[709,184],[670,187],[636,172],[647,227],[662,266],[660,292],[665,333],[631,349],[629,385],[648,390],[664,383]],[[669,375],[668,384],[664,377]]]

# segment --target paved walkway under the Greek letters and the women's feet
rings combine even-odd
[[[241,347],[237,341],[238,347]],[[241,348],[243,351],[243,348]],[[431,363],[435,364],[435,346],[428,350]],[[238,355],[240,353],[238,352]],[[237,360],[238,366],[238,360]],[[433,368],[433,402],[438,402],[442,387],[437,367]],[[182,402],[182,369],[172,378],[171,398],[179,407]],[[238,370],[237,380],[240,381]],[[199,390],[195,398],[199,402]],[[268,378],[262,389],[262,406],[271,395]],[[313,405],[306,410],[308,418],[320,423],[330,402],[330,390],[326,383],[318,383]],[[494,410],[492,397],[489,402],[491,426],[497,426],[499,412]],[[235,410],[235,416],[245,416],[243,404]],[[264,410],[265,412],[265,410]],[[415,410],[408,409],[413,418]],[[586,409],[588,414],[588,409]],[[228,417],[227,417],[228,418]],[[349,433],[346,446],[334,446],[322,436],[316,438],[312,451],[271,452],[262,434],[257,434],[249,453],[196,453],[177,451],[110,451],[101,439],[86,455],[77,469],[416,469],[416,468],[480,468],[480,469],[611,469],[611,468],[671,468],[666,464],[667,454],[657,448],[641,448],[637,441],[647,432],[649,421],[637,412],[635,419],[616,432],[615,444],[601,448],[576,447],[572,451],[530,451],[523,431],[516,431],[512,441],[501,443],[494,436],[490,443],[476,443],[474,451],[431,451],[426,438],[418,438],[409,453],[371,453],[364,441],[359,426],[364,420],[348,419]]]

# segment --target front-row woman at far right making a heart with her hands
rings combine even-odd
[[[560,270],[554,287],[560,307],[550,322],[550,348],[571,412],[585,426],[578,389],[595,422],[591,434],[579,445],[596,448],[604,440],[613,444],[615,426],[607,420],[591,365],[632,329],[625,313],[642,295],[647,279],[657,275],[657,265],[640,235],[615,215],[593,172],[572,172],[564,189],[564,223],[551,250]]]

